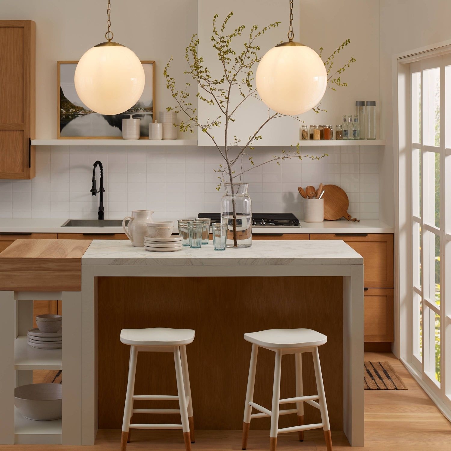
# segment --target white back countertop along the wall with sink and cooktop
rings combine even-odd
[[[62,227],[68,218],[1,218],[1,233],[124,233],[122,227]],[[176,221],[175,221],[176,223]],[[393,233],[393,227],[377,220],[350,222],[324,221],[303,222],[301,227],[253,227],[258,234],[304,234],[304,233]],[[177,230],[175,230],[177,232]]]

